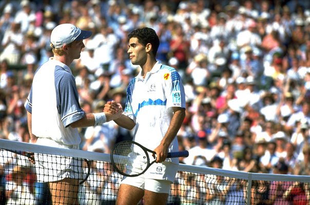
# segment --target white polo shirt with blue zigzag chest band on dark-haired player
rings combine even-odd
[[[179,73],[159,62],[146,73],[134,77],[127,89],[124,115],[136,123],[134,141],[154,150],[166,134],[173,115],[172,107],[185,108],[185,93]],[[168,152],[177,152],[177,137]],[[172,158],[178,163],[178,158]]]

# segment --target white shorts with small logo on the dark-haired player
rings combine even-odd
[[[156,193],[170,192],[170,185],[176,177],[178,165],[168,161],[163,163],[153,163],[148,170],[136,177],[123,177],[121,182],[126,185],[138,187]]]

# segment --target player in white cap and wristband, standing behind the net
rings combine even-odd
[[[36,70],[25,103],[32,143],[79,149],[81,137],[77,128],[100,125],[122,114],[117,104],[109,112],[100,113],[85,113],[79,104],[69,66],[80,58],[85,47],[83,39],[91,34],[72,24],[61,24],[52,30],[50,46],[54,55]],[[32,162],[36,165],[37,180],[49,182],[53,204],[77,204],[82,168],[76,165],[81,162],[52,155],[35,155]]]

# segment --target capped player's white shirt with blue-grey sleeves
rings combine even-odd
[[[32,133],[66,145],[81,137],[69,125],[85,116],[79,104],[75,79],[68,66],[50,58],[35,72],[25,108],[32,114]]]

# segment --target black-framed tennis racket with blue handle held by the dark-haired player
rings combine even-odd
[[[114,169],[124,176],[139,176],[156,162],[150,156],[156,152],[149,150],[135,141],[121,141],[111,150],[111,163]],[[187,157],[188,151],[169,152],[167,158]]]

